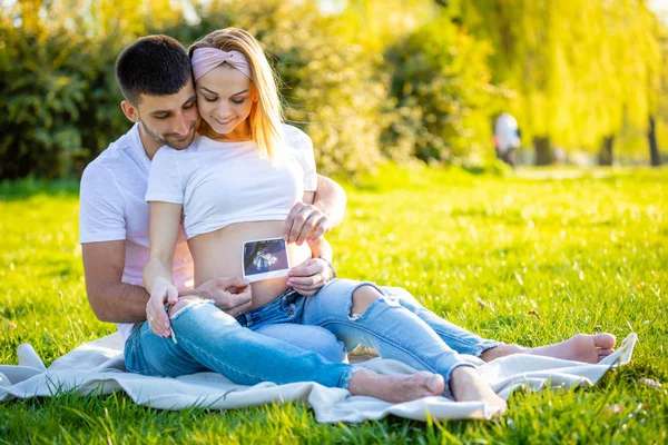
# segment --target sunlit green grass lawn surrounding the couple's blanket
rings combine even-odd
[[[636,332],[631,364],[595,388],[515,394],[497,422],[363,425],[318,425],[301,404],[173,413],[120,393],[70,393],[0,404],[0,443],[666,443],[667,172],[502,178],[389,166],[346,185],[347,217],[330,237],[341,276],[403,286],[450,320],[508,343]],[[17,364],[17,346],[30,343],[48,366],[112,333],[86,299],[76,188],[2,184],[0,215],[0,363]]]

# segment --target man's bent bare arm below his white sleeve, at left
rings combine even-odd
[[[148,293],[141,286],[121,283],[125,241],[81,245],[86,293],[100,322],[139,323],[146,320]]]

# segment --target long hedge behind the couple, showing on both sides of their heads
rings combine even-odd
[[[273,55],[287,118],[312,137],[322,172],[350,176],[373,168],[380,158],[377,115],[386,98],[379,56],[336,38],[334,19],[321,17],[310,3],[210,1],[196,7],[200,22],[194,26],[161,20],[160,29],[147,30],[126,23],[124,29],[101,27],[106,33],[99,34],[66,26],[71,12],[52,9],[52,23],[32,30],[16,27],[0,12],[0,109],[6,110],[0,115],[0,179],[72,176],[127,131],[114,63],[138,32],[167,33],[187,46],[228,26],[247,29]],[[150,22],[149,13],[135,16]]]

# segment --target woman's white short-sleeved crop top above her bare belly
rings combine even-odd
[[[188,239],[235,222],[284,220],[317,177],[311,138],[287,125],[283,131],[287,147],[276,165],[253,141],[197,136],[186,149],[160,148],[146,200],[181,204]]]

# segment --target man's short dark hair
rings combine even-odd
[[[169,36],[147,36],[126,47],[116,60],[122,96],[138,105],[139,95],[177,93],[191,77],[186,49]]]

